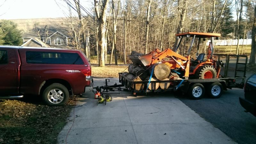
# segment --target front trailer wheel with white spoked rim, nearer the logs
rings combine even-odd
[[[204,86],[201,83],[195,83],[189,88],[188,93],[192,99],[201,99],[204,96],[204,91]]]

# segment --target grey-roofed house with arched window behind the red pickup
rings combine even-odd
[[[28,47],[53,47],[53,48],[83,48],[82,37],[77,40],[70,35],[68,27],[56,25],[35,25],[29,32],[22,35],[22,46]],[[80,41],[77,45],[75,41]]]

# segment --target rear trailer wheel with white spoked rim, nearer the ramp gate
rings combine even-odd
[[[208,93],[212,98],[219,98],[222,94],[223,87],[219,82],[212,83],[208,88]]]

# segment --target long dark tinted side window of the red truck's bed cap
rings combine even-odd
[[[84,64],[77,53],[27,51],[26,62],[33,64]]]

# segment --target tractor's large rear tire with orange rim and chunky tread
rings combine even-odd
[[[195,72],[196,79],[211,79],[217,77],[217,71],[210,65],[203,65]]]

